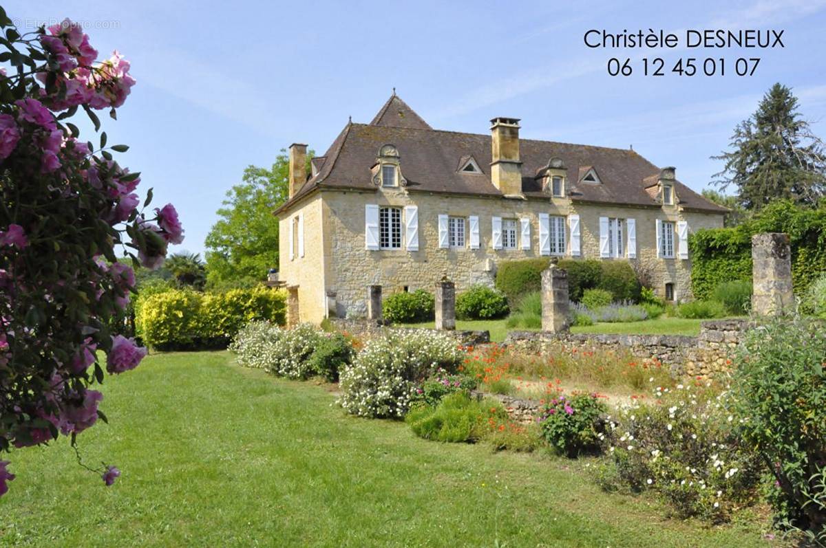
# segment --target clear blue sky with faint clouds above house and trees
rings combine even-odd
[[[665,6],[665,4],[669,4]],[[118,49],[137,84],[110,143],[131,146],[154,203],[173,202],[203,251],[225,191],[249,164],[293,142],[323,154],[368,122],[396,87],[438,129],[487,133],[522,119],[526,138],[626,148],[707,186],[734,125],[772,83],[793,87],[826,138],[826,1],[779,2],[4,2],[21,28],[70,17],[102,54]],[[590,50],[589,29],[783,29],[776,50]],[[726,58],[724,77],[610,77],[607,59]],[[751,77],[731,70],[762,58]],[[88,135],[88,130],[84,131]]]

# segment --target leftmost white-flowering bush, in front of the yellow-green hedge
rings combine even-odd
[[[269,322],[251,322],[240,330],[230,351],[235,352],[241,366],[306,379],[317,372],[310,358],[321,337],[319,329],[311,324],[282,329]]]

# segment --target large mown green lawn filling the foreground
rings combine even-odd
[[[588,461],[427,442],[226,352],[152,356],[105,392],[110,425],[78,440],[121,478],[106,488],[65,439],[13,451],[0,545],[767,546],[747,519],[705,527],[604,494]]]

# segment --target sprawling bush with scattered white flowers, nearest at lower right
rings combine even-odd
[[[661,494],[678,517],[725,522],[757,498],[762,461],[744,446],[729,393],[657,389],[660,404],[629,404],[609,417],[601,470],[605,489]]]

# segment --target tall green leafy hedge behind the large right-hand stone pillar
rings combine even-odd
[[[789,234],[796,293],[805,293],[826,272],[826,201],[817,209],[776,201],[738,226],[691,234],[691,289],[695,298],[710,299],[722,281],[750,282],[752,235],[762,232]]]

